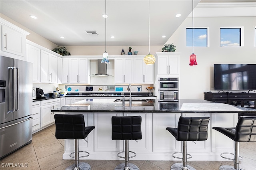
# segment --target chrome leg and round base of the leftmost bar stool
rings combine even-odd
[[[91,170],[90,164],[86,162],[79,163],[79,139],[75,139],[75,163],[65,170]]]

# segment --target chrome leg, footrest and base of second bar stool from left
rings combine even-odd
[[[132,152],[132,151],[130,151]],[[121,153],[121,152],[120,152]],[[132,152],[134,153],[134,152]],[[120,156],[118,156],[120,157]],[[134,157],[134,156],[132,156]],[[123,157],[120,157],[123,158]],[[125,140],[125,151],[124,151],[124,160],[125,163],[118,164],[114,170],[140,170],[138,166],[129,163],[129,140]]]

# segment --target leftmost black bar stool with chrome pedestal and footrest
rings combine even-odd
[[[90,170],[91,166],[85,162],[79,163],[79,158],[89,156],[86,151],[79,151],[79,139],[84,139],[95,127],[85,127],[84,115],[54,115],[55,119],[55,137],[57,139],[74,139],[75,140],[75,152],[72,152],[69,156],[75,158],[75,163],[68,166],[66,170]],[[88,142],[87,140],[85,140]],[[79,157],[79,152],[87,153],[85,156]],[[75,156],[72,156],[75,154]]]

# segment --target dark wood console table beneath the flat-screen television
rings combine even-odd
[[[204,100],[256,109],[256,93],[204,93]]]

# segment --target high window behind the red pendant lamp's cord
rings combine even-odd
[[[194,30],[194,33],[193,33]],[[186,29],[186,43],[187,47],[208,47],[209,46],[209,38],[208,38],[208,28],[187,28]],[[192,39],[194,35],[194,44],[192,43]]]

